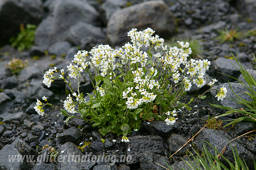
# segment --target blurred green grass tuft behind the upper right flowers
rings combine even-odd
[[[194,38],[184,38],[182,39],[182,41],[184,42],[189,42],[189,47],[192,50],[192,53],[190,54],[190,56],[192,58],[202,58],[201,55],[204,52],[202,50],[202,45],[199,43],[199,41],[197,39]],[[176,38],[171,38],[169,41],[167,41],[167,47],[174,47],[174,46],[179,46],[179,43],[176,41]]]

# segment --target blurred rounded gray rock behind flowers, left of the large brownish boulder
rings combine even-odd
[[[81,49],[89,50],[94,44],[102,44],[104,39],[105,35],[100,27],[84,22],[75,24],[67,33],[67,41],[79,46]]]

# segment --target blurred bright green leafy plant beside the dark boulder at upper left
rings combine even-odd
[[[17,47],[19,51],[30,48],[34,44],[35,40],[36,26],[32,24],[27,24],[24,28],[24,24],[20,24],[20,33],[17,37],[12,37],[10,39],[11,46]]]

